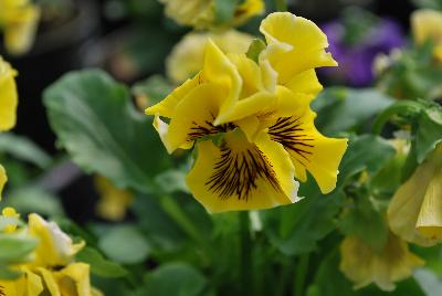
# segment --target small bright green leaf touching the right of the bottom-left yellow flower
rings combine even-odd
[[[93,247],[86,246],[78,254],[76,260],[91,265],[91,272],[102,277],[122,277],[127,271],[119,264],[110,262]]]

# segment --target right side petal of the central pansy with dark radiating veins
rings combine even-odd
[[[284,94],[287,94],[284,92]],[[280,96],[282,110],[290,109],[290,94]],[[304,102],[308,101],[304,97]],[[288,151],[295,166],[296,177],[305,181],[309,171],[323,193],[328,193],[336,187],[339,162],[347,149],[347,139],[327,138],[315,127],[316,114],[308,105],[292,113],[291,116],[280,117],[269,128],[271,139],[281,142]]]

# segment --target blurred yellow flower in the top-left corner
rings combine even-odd
[[[31,49],[39,19],[39,7],[28,0],[0,0],[0,28],[9,53],[20,55]]]

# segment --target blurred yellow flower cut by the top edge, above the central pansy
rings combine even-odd
[[[166,15],[181,25],[196,29],[209,29],[218,25],[240,25],[251,17],[264,11],[263,0],[245,0],[233,11],[229,23],[217,23],[215,3],[213,0],[159,0],[166,6]]]

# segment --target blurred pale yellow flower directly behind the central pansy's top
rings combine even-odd
[[[204,50],[212,40],[223,52],[245,53],[253,36],[235,30],[187,34],[167,59],[167,75],[176,84],[194,76],[203,66]]]

